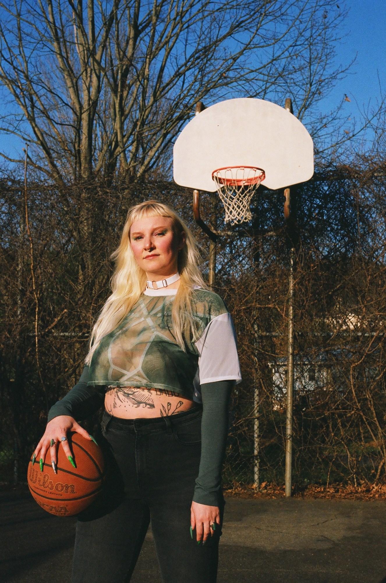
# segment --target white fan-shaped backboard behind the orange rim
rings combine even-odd
[[[212,173],[227,166],[263,168],[261,184],[289,187],[313,175],[313,141],[298,118],[271,101],[220,101],[196,114],[176,139],[173,177],[180,186],[214,192]]]

